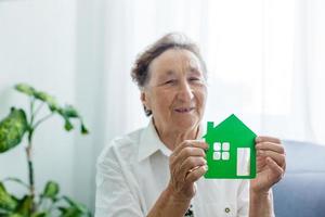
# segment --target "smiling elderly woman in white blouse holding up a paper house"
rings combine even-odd
[[[113,140],[99,157],[95,216],[274,215],[271,188],[285,171],[278,139],[256,138],[256,179],[203,178],[207,69],[193,42],[166,35],[139,55],[131,76],[151,122]]]

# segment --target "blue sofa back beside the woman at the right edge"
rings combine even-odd
[[[325,145],[284,141],[287,169],[273,188],[276,217],[325,217]]]

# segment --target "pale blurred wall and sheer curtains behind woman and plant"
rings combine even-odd
[[[28,106],[17,82],[79,108],[89,136],[57,117],[36,133],[36,187],[56,180],[93,208],[101,150],[148,123],[135,56],[181,31],[207,62],[206,120],[235,113],[258,135],[325,145],[324,11],[322,0],[0,0],[0,118]],[[0,179],[27,180],[23,149],[0,155]]]

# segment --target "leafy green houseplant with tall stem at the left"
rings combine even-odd
[[[81,217],[91,216],[89,209],[65,195],[58,195],[60,186],[55,181],[48,181],[43,191],[37,193],[34,181],[34,164],[31,158],[32,138],[36,129],[47,119],[57,114],[64,120],[65,130],[74,128],[72,119],[80,123],[80,132],[87,135],[88,130],[79,113],[72,105],[60,106],[56,100],[46,92],[38,91],[31,86],[18,84],[15,89],[29,98],[29,111],[12,107],[10,114],[0,122],[0,153],[6,152],[23,143],[27,137],[26,156],[28,167],[28,183],[17,178],[6,178],[0,181],[0,216],[9,217]],[[49,114],[38,118],[43,105]],[[16,197],[8,192],[4,182],[14,181],[27,188],[23,197]]]

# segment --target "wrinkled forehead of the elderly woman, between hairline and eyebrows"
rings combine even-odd
[[[152,74],[171,74],[192,69],[202,73],[198,58],[185,49],[169,49],[154,59],[150,65]]]

